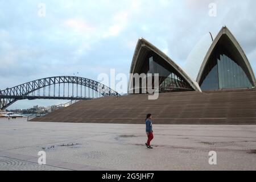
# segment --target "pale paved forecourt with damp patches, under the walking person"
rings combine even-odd
[[[256,170],[256,125],[154,125],[152,150],[144,125],[1,118],[0,126],[0,170]]]

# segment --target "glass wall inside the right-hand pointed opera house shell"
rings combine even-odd
[[[241,65],[231,57],[221,48],[213,52],[200,81],[202,90],[253,87]]]

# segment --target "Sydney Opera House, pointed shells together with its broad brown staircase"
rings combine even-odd
[[[138,40],[130,73],[158,73],[157,100],[148,100],[146,92],[80,101],[32,121],[141,124],[151,113],[157,124],[256,124],[255,75],[245,52],[225,26],[208,40],[188,56],[184,69]]]

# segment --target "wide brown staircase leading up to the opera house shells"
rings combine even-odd
[[[38,122],[143,124],[151,113],[155,124],[256,125],[256,90],[161,93],[79,101],[49,113]]]

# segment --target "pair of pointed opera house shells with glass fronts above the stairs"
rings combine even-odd
[[[210,44],[204,59],[198,59],[195,63],[189,64],[188,68],[197,71],[196,78],[189,76],[165,53],[141,38],[134,52],[130,73],[158,73],[160,93],[255,87],[255,76],[249,60],[226,26],[221,28]],[[130,79],[129,90],[135,89],[134,81]]]

